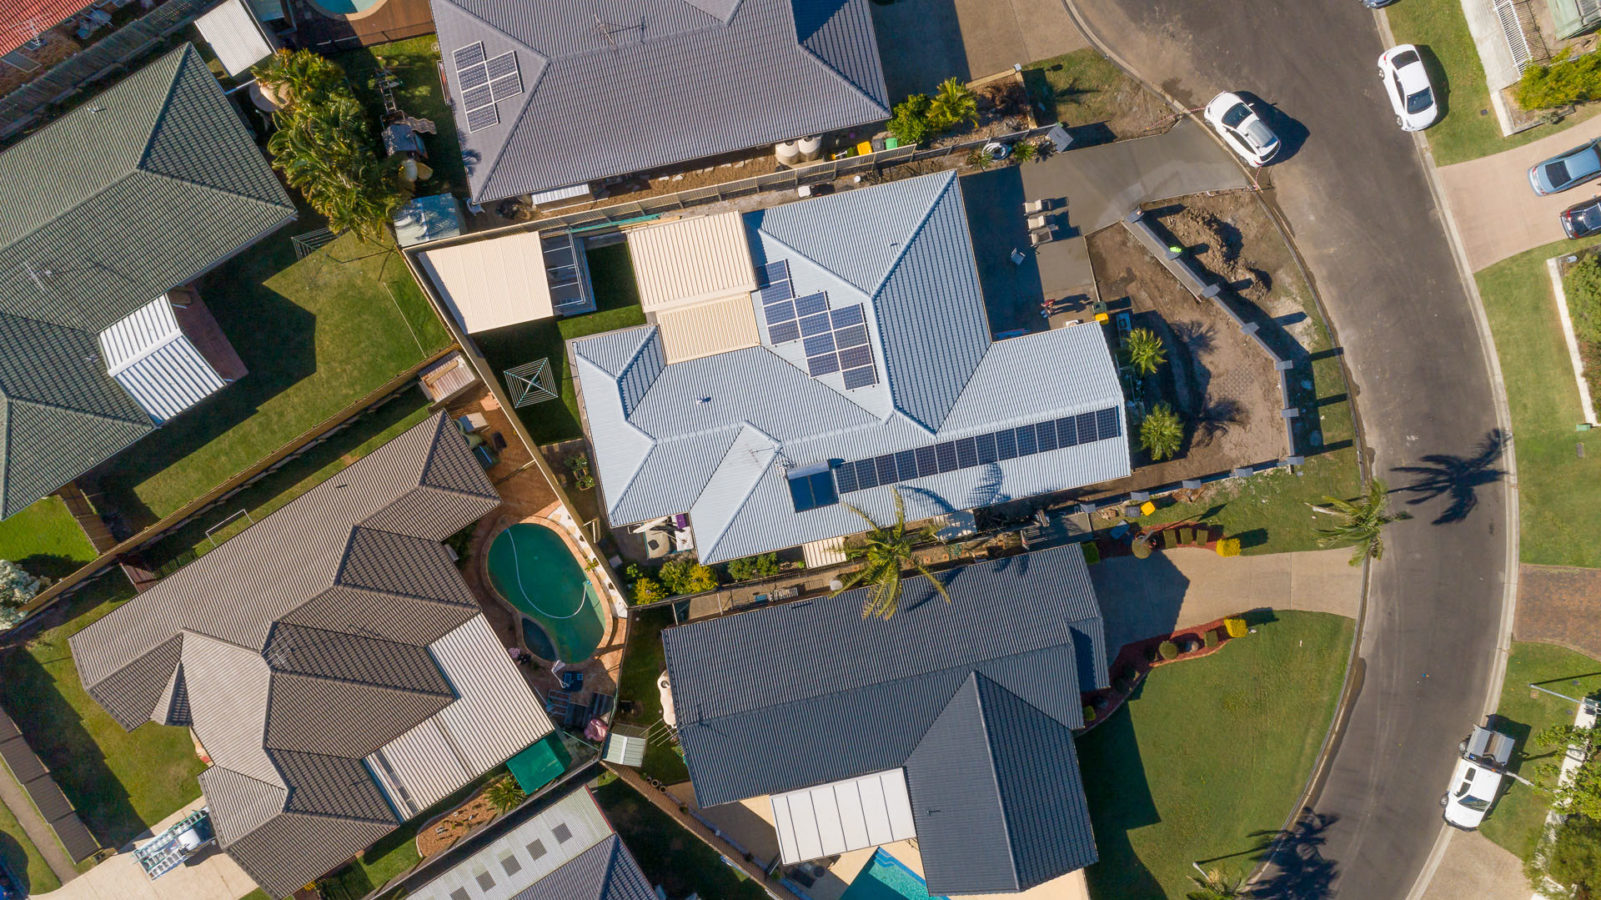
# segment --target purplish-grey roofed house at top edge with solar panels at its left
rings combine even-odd
[[[869,0],[431,0],[472,200],[889,119]]]

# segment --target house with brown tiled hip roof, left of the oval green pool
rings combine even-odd
[[[496,506],[434,415],[75,634],[78,676],[192,729],[223,850],[283,897],[551,733],[440,543]]]

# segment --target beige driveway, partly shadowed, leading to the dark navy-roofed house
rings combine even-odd
[[[1225,559],[1209,549],[1121,556],[1090,567],[1106,623],[1106,652],[1257,607],[1356,618],[1362,570],[1348,549]]]

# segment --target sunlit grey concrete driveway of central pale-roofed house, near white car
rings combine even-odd
[[[1025,195],[1066,199],[1057,224],[1082,234],[1114,224],[1150,200],[1250,187],[1228,151],[1191,120],[1166,135],[1068,151],[1017,171]]]

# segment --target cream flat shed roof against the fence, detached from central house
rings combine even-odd
[[[418,259],[439,298],[469,333],[556,314],[538,232],[424,250]]]

